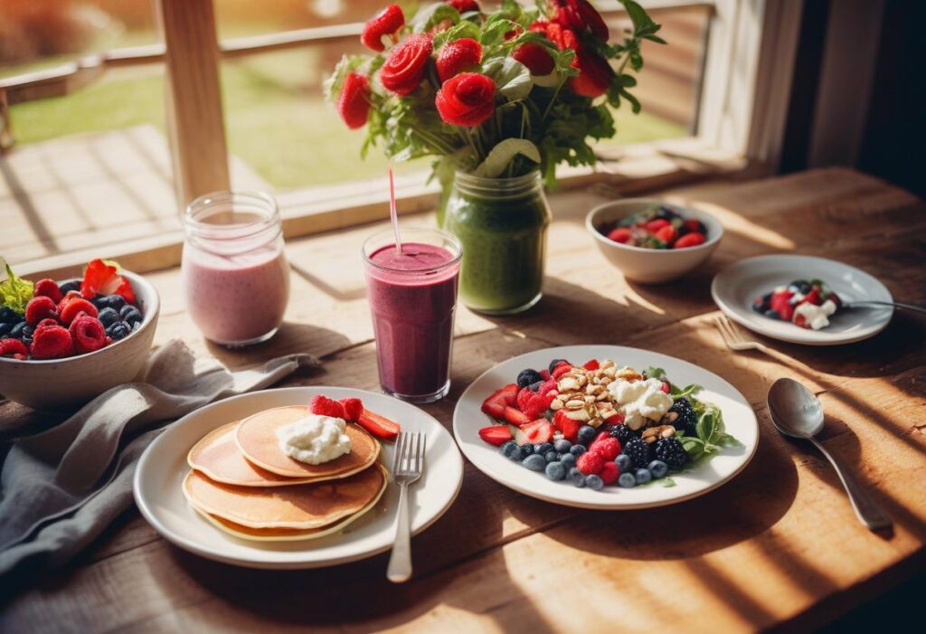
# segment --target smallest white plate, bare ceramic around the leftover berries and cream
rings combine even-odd
[[[894,317],[892,306],[855,308],[833,315],[825,329],[811,330],[758,315],[752,309],[753,300],[776,286],[813,279],[823,280],[844,302],[894,301],[879,280],[860,268],[810,255],[760,255],[740,260],[720,271],[711,282],[710,294],[727,317],[782,342],[807,345],[860,342],[887,328]]]

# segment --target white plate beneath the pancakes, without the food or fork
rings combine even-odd
[[[195,441],[232,420],[270,407],[307,404],[315,394],[341,399],[356,396],[377,414],[405,431],[423,431],[428,445],[424,473],[409,489],[412,529],[418,533],[457,498],[463,482],[463,459],[450,433],[432,416],[390,396],[329,387],[285,388],[235,396],[183,416],[148,446],[135,471],[134,494],[142,515],[181,548],[226,564],[255,568],[314,568],[357,561],[388,550],[393,543],[398,488],[390,482],[369,512],[343,532],[307,541],[246,541],[228,535],[199,516],[187,503],[181,481],[189,470],[186,454]],[[391,466],[394,445],[383,443],[380,461]]]

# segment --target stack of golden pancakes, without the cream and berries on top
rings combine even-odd
[[[298,405],[276,407],[206,434],[187,455],[186,499],[245,540],[308,540],[362,516],[386,488],[379,441],[348,423],[348,454],[321,465],[299,462],[283,453],[277,429],[307,414]]]

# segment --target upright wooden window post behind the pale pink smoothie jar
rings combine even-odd
[[[167,61],[167,116],[181,210],[230,189],[212,0],[154,0]]]

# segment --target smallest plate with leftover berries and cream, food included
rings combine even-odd
[[[811,255],[760,255],[725,268],[710,287],[723,313],[772,339],[807,345],[859,342],[881,332],[891,306],[845,308],[853,302],[893,302],[865,271]]]

